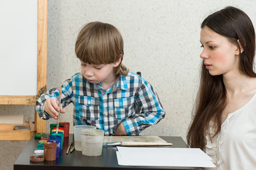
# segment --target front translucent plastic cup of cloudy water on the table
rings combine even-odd
[[[100,156],[102,154],[104,133],[104,130],[98,129],[81,130],[82,154]]]

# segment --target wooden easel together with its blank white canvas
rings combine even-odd
[[[0,1],[0,105],[35,105],[46,93],[47,6],[47,0]],[[0,124],[0,140],[30,140],[34,130],[46,132],[46,120],[34,115],[31,132]]]

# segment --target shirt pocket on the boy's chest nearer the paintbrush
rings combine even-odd
[[[100,117],[99,98],[91,96],[78,96],[80,104],[80,118],[85,120],[97,120]]]

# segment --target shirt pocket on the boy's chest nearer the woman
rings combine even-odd
[[[114,111],[117,120],[129,118],[134,113],[134,96],[114,99]]]

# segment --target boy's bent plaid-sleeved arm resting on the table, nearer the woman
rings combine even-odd
[[[153,87],[144,82],[135,95],[135,104],[142,108],[141,113],[136,113],[132,118],[122,120],[127,135],[140,135],[142,130],[159,123],[164,118],[165,111]],[[139,111],[138,111],[139,112]]]

